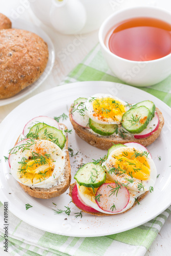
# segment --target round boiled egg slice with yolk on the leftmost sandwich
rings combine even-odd
[[[35,140],[21,147],[12,159],[11,174],[20,183],[31,187],[50,188],[63,174],[65,152],[48,140]]]

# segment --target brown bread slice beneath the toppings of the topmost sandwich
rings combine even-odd
[[[76,132],[76,134],[83,139],[84,141],[88,142],[90,145],[100,148],[101,150],[109,150],[113,144],[124,144],[128,142],[137,142],[143,146],[148,146],[152,144],[160,135],[160,132],[162,130],[163,124],[164,124],[164,118],[159,109],[156,108],[156,112],[158,114],[160,124],[159,129],[154,132],[151,136],[142,138],[142,139],[135,139],[134,137],[126,137],[121,138],[119,136],[113,137],[113,136],[101,136],[98,134],[91,133],[89,129],[86,129],[80,125],[78,125],[71,116],[72,108],[70,108],[70,121],[73,125],[73,128]]]

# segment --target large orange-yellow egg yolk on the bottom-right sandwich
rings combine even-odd
[[[147,180],[150,176],[150,166],[147,162],[146,154],[136,150],[123,150],[116,152],[112,156],[115,159],[114,164],[110,165],[110,170],[114,170],[116,175],[124,173],[139,180]]]

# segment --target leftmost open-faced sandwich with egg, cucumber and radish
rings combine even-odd
[[[10,150],[9,166],[30,196],[60,196],[71,182],[67,127],[47,116],[30,120]]]

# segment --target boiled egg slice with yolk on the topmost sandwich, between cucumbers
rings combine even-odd
[[[127,111],[127,103],[111,94],[95,94],[85,104],[87,115],[101,124],[118,124]]]

